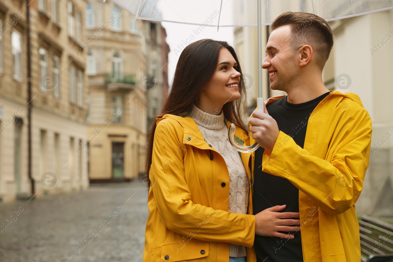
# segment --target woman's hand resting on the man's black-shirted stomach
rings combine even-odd
[[[276,236],[285,239],[292,239],[294,235],[284,234],[278,231],[291,232],[300,231],[299,213],[279,212],[284,210],[286,205],[276,205],[255,215],[255,234],[260,236]]]

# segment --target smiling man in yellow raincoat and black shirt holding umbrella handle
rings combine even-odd
[[[370,116],[358,95],[323,85],[333,46],[323,18],[286,12],[270,30],[262,67],[270,88],[288,95],[271,97],[264,112],[255,110],[250,119],[250,144],[255,139],[261,146],[252,156],[253,214],[270,228],[277,212],[259,212],[286,205],[277,211],[283,218],[299,212],[301,230],[291,238],[274,230],[255,235],[257,261],[359,262],[354,204],[369,165]]]

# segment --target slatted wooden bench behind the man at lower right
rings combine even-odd
[[[362,262],[393,262],[393,224],[364,215],[359,231]]]

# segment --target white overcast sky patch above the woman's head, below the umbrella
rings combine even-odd
[[[165,27],[167,32],[166,41],[169,44],[171,51],[168,55],[168,82],[172,84],[174,71],[176,64],[179,59],[180,53],[187,44],[184,42],[190,42],[187,40],[191,38],[191,35],[195,37],[191,42],[195,42],[204,38],[211,38],[220,41],[227,41],[233,46],[233,27],[220,27],[217,32],[217,27],[205,27],[200,33],[196,32],[196,28],[199,26],[187,25],[187,24],[176,24],[169,22],[161,22],[162,26]],[[197,34],[198,33],[198,34]],[[191,43],[190,42],[190,43]],[[181,46],[183,44],[183,47]]]

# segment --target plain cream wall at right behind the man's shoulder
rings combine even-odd
[[[374,47],[387,35],[393,37],[389,31],[393,28],[392,23],[393,12],[389,10],[333,24],[335,75],[347,73],[351,77],[352,86],[347,91],[359,95],[373,125],[370,164],[364,189],[356,203],[359,215],[393,215],[393,142],[386,138],[387,141],[382,141],[380,146],[375,145],[387,133],[393,136],[393,131],[389,130],[393,127],[393,90],[390,88],[393,42],[389,40],[384,46],[380,45],[379,51]],[[373,55],[371,49],[378,52]]]

